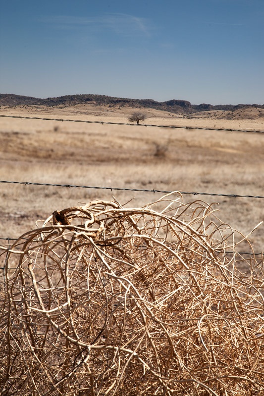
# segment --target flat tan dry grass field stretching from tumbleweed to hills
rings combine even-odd
[[[127,122],[134,110],[18,106],[1,107],[0,114]],[[145,113],[147,124],[264,130],[262,113],[224,118],[223,112],[211,112],[192,119]],[[263,196],[263,174],[264,134],[0,118],[0,180]],[[1,183],[0,238],[19,237],[54,210],[112,196],[136,207],[162,194]],[[243,234],[264,220],[264,199],[183,199],[218,202],[219,218]],[[250,237],[256,252],[263,251],[263,229]]]

